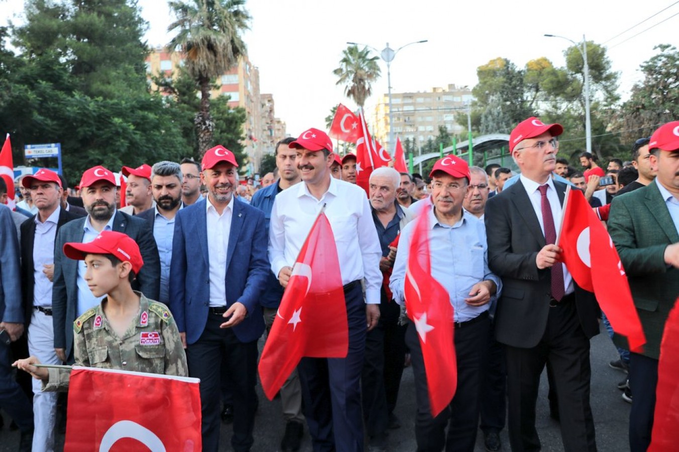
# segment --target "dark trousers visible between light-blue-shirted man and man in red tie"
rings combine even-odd
[[[492,326],[489,329],[488,351],[481,375],[481,430],[499,433],[507,417],[507,364],[504,347],[495,340]]]

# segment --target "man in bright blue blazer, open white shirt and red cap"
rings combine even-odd
[[[257,396],[259,305],[269,274],[264,214],[234,197],[236,159],[223,146],[206,151],[202,182],[208,197],[175,216],[170,265],[172,315],[189,362],[200,378],[203,450],[219,449],[222,359],[233,383],[236,451],[253,445]]]

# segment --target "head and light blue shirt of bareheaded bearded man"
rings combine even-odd
[[[181,168],[175,162],[158,162],[151,168],[151,191],[155,208],[141,212],[151,225],[153,238],[160,255],[160,297],[168,304],[170,290],[170,261],[172,260],[172,237],[175,234],[175,215],[183,208],[181,202]]]

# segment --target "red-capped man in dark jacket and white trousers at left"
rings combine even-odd
[[[60,227],[80,218],[61,208],[63,189],[56,172],[41,169],[24,177],[22,185],[31,191],[38,213],[21,225],[21,278],[23,304],[30,356],[43,364],[60,364],[54,352],[52,322],[52,277],[54,242]],[[56,392],[43,392],[40,381],[33,379],[33,449],[54,449]]]

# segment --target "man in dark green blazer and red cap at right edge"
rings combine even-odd
[[[629,449],[650,444],[658,381],[660,342],[679,295],[679,121],[661,126],[648,143],[655,182],[614,197],[608,231],[627,273],[629,288],[646,335],[641,354],[630,354]],[[619,347],[629,350],[624,337]]]

